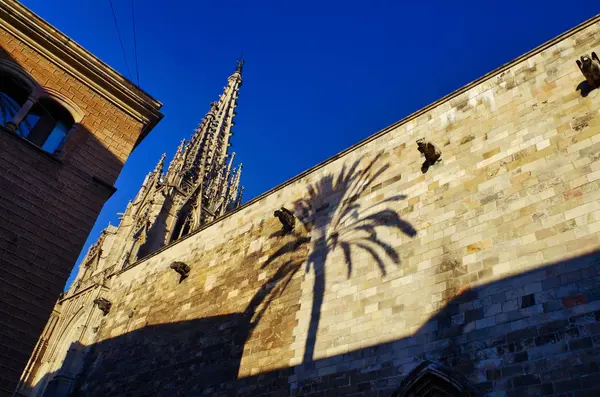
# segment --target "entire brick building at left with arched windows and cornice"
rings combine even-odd
[[[0,395],[13,392],[160,107],[17,1],[0,1]]]

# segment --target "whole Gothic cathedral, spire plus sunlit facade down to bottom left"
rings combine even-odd
[[[235,153],[228,148],[243,66],[244,61],[238,61],[223,93],[210,105],[192,137],[181,142],[166,171],[163,154],[119,214],[119,225],[108,225],[89,248],[23,373],[22,395],[41,395],[46,388],[52,395],[70,390],[85,356],[85,349],[76,347],[94,339],[88,331],[70,330],[89,330],[99,324],[101,315],[94,307],[110,310],[104,297],[117,272],[240,204],[242,166],[234,167]],[[54,346],[51,352],[46,351],[48,345]],[[68,366],[62,365],[65,357],[71,363]],[[48,373],[56,376],[44,376]]]

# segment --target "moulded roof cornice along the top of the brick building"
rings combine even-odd
[[[0,0],[0,27],[143,124],[136,146],[162,119],[162,103],[16,0]]]

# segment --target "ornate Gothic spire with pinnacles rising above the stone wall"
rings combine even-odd
[[[223,93],[192,137],[181,142],[166,171],[163,154],[120,214],[119,226],[103,231],[99,242],[108,249],[106,266],[125,268],[240,204],[242,165],[234,167],[235,153],[228,149],[243,66],[238,61]]]

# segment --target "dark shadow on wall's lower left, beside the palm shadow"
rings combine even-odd
[[[241,313],[167,324],[167,328],[147,326],[91,349],[72,343],[60,370],[47,374],[36,385],[24,387],[20,395],[67,396],[74,389],[74,395],[96,395],[95,384],[88,387],[84,383],[81,389],[77,386],[82,381],[77,377],[79,372],[85,374],[85,379],[112,378],[110,385],[102,386],[112,390],[109,395],[177,395],[181,387],[201,392],[207,384],[197,384],[198,376],[209,385],[236,379],[246,341],[297,270],[289,264],[281,266]],[[88,351],[80,371],[82,357]],[[158,373],[172,379],[157,387]],[[39,385],[46,383],[45,390],[41,390]]]

